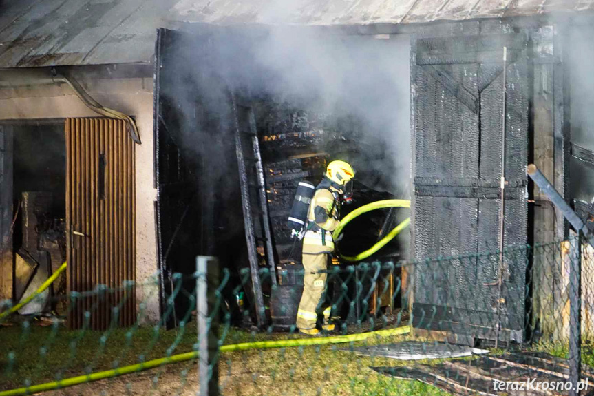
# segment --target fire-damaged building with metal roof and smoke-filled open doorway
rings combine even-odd
[[[127,311],[146,301],[153,320],[173,273],[193,273],[198,254],[273,272],[298,261],[284,227],[288,202],[296,181],[315,182],[332,156],[360,169],[359,205],[412,200],[410,238],[382,260],[564,238],[561,213],[527,180],[531,162],[568,202],[593,193],[584,183],[594,149],[586,105],[594,83],[584,66],[594,55],[590,1],[43,0],[3,8],[2,298],[21,293],[11,225],[19,194],[31,191],[56,188],[47,230],[65,230],[69,290],[154,279],[152,295]],[[63,76],[130,116],[140,140],[127,123],[96,118]],[[56,132],[62,126],[65,135]],[[34,154],[32,136],[59,153]],[[42,174],[25,167],[32,156],[47,156],[43,169],[62,176],[27,185]],[[258,172],[266,184],[254,187]],[[348,245],[373,243],[383,220],[359,225]],[[527,321],[547,329],[554,312],[544,307],[561,293],[559,268],[538,257],[518,262],[506,268],[502,298],[500,336],[513,341]],[[473,337],[493,338],[497,273],[495,261],[419,265],[401,274],[413,293],[399,304],[413,317],[436,312],[449,329],[457,310]]]

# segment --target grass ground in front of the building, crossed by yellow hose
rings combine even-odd
[[[299,335],[251,333],[232,328],[224,344],[286,337]],[[225,394],[238,395],[446,395],[434,386],[392,379],[370,369],[370,366],[397,366],[405,362],[358,357],[339,351],[349,345],[384,344],[403,339],[403,336],[394,336],[350,344],[224,353],[220,358],[220,385]],[[197,335],[195,326],[171,331],[137,327],[104,333],[69,331],[62,324],[54,324],[0,328],[0,340],[0,390],[7,390],[135,364],[168,353],[192,351]],[[167,386],[177,389],[175,393],[182,394],[180,389],[184,384],[185,388],[195,390],[197,379],[192,377],[195,372],[195,362],[185,362],[156,368],[146,375],[127,375],[122,380],[127,387],[152,384],[153,388],[159,388],[169,384]],[[140,385],[141,380],[146,384]],[[84,393],[93,394],[98,388],[115,386],[116,381],[95,383],[87,386]]]

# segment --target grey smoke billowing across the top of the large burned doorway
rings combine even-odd
[[[224,30],[224,29],[223,29]],[[231,29],[230,29],[231,30]],[[336,36],[319,30],[249,28],[222,31],[178,45],[167,73],[171,97],[182,115],[180,146],[189,157],[215,157],[213,177],[233,169],[224,160],[233,134],[229,92],[271,98],[325,114],[343,127],[359,152],[340,153],[352,161],[359,181],[407,198],[410,186],[410,39]],[[200,116],[205,117],[200,121]],[[209,133],[214,118],[215,134]],[[327,124],[328,124],[327,123]],[[223,131],[226,130],[225,133]],[[339,131],[340,132],[340,131]],[[220,174],[218,174],[220,173]]]

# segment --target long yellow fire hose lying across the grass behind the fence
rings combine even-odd
[[[258,342],[242,342],[241,344],[223,345],[219,348],[221,352],[246,351],[248,349],[268,349],[268,348],[286,348],[289,346],[307,346],[307,345],[322,345],[322,344],[340,344],[343,342],[357,342],[363,341],[372,335],[378,337],[389,337],[391,335],[401,335],[410,333],[410,326],[396,327],[395,329],[385,329],[378,331],[369,331],[367,333],[336,335],[334,337],[317,337],[317,338],[299,338],[292,340],[275,340],[275,341],[258,341]],[[136,373],[138,371],[148,370],[149,368],[156,368],[164,366],[165,364],[185,362],[187,360],[196,359],[198,351],[180,353],[169,357],[162,357],[160,359],[149,360],[138,364],[131,364],[130,366],[114,368],[112,370],[98,371],[87,375],[78,375],[78,377],[70,377],[61,379],[60,381],[46,382],[45,384],[26,386],[23,388],[4,390],[0,392],[0,396],[17,396],[17,395],[31,395],[33,393],[46,392],[47,390],[54,390],[66,388],[67,386],[74,386],[85,384],[86,382],[94,382],[100,379],[107,379],[118,377],[118,375]]]

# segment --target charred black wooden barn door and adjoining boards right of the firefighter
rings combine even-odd
[[[571,200],[566,37],[563,26],[500,20],[431,26],[416,34],[412,53],[416,259],[498,249],[502,81],[500,76],[490,84],[485,81],[502,70],[494,56],[500,56],[503,45],[511,49],[504,244],[546,243],[567,236],[562,214],[524,174],[525,165],[535,163]],[[496,48],[489,50],[489,45]],[[493,261],[477,259],[455,269],[421,267],[414,301],[429,304],[416,305],[415,312],[432,304],[471,309],[477,311],[474,319],[467,316],[471,322],[492,329],[489,317],[496,312],[493,302],[499,296],[485,284],[496,280],[498,267]],[[509,330],[521,337],[529,337],[529,331],[537,328],[555,333],[555,312],[564,303],[560,260],[535,254],[524,262],[504,265],[502,313],[508,315]],[[449,286],[418,295],[421,284],[429,286],[427,282]],[[463,295],[471,295],[471,303],[463,302]],[[439,319],[447,320],[447,315]],[[512,333],[504,337],[509,339]],[[493,335],[487,331],[481,337]]]

